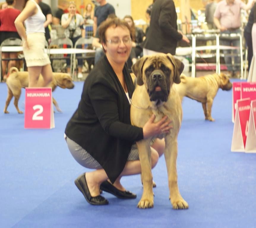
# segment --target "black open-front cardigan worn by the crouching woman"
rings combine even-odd
[[[131,98],[134,85],[126,65],[123,74]],[[99,162],[112,183],[123,171],[132,144],[143,139],[143,129],[131,125],[129,101],[106,56],[85,80],[65,134]]]

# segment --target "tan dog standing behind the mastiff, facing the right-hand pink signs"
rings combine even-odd
[[[202,103],[205,119],[214,121],[211,116],[211,107],[218,89],[230,90],[232,83],[227,75],[220,73],[202,77],[186,77],[181,74],[181,83],[175,84],[182,101],[184,96]]]

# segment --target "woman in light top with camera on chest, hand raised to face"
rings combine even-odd
[[[68,4],[68,13],[64,13],[61,16],[61,26],[65,29],[64,34],[65,37],[72,40],[73,47],[75,46],[75,42],[79,38],[82,37],[84,19],[82,15],[76,13],[76,4],[74,1],[69,2]],[[78,46],[79,48],[79,46]],[[81,47],[80,47],[81,48]],[[81,56],[81,54],[77,54],[77,57]],[[82,78],[82,66],[83,59],[78,58],[78,78]],[[70,58],[67,59],[67,72],[70,73]]]

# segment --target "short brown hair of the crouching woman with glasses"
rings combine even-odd
[[[131,31],[128,23],[124,20],[121,20],[120,18],[113,18],[113,19],[105,20],[99,26],[99,39],[100,39],[101,43],[106,44],[105,33],[106,33],[106,30],[112,26],[114,28],[116,28],[116,27],[127,28],[129,30],[130,36],[132,37],[132,31]]]

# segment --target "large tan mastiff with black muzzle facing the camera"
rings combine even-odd
[[[188,203],[181,197],[178,189],[178,175],[176,159],[178,154],[177,137],[182,120],[182,107],[178,93],[172,86],[180,82],[180,74],[184,64],[171,54],[159,53],[140,58],[132,66],[137,77],[137,85],[131,101],[131,123],[143,127],[152,114],[159,121],[165,115],[172,120],[173,128],[168,134],[157,137],[165,138],[165,162],[168,173],[170,201],[174,209],[187,209]],[[141,176],[143,181],[143,194],[138,208],[152,208],[154,206],[153,177],[151,172],[152,138],[137,142]]]

